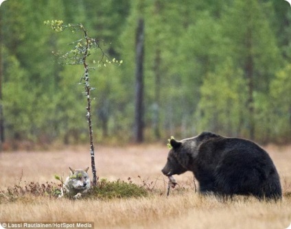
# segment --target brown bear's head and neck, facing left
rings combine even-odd
[[[194,165],[194,160],[198,155],[200,145],[205,143],[210,138],[218,137],[219,135],[211,132],[202,132],[193,138],[185,138],[181,141],[176,141],[174,138],[170,140],[169,154],[167,155],[167,163],[162,169],[165,176],[180,175],[185,171],[191,170]]]

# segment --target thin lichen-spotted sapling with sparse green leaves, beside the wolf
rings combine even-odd
[[[89,67],[89,61],[87,60],[88,56],[91,55],[92,51],[95,49],[99,52],[97,58],[97,62],[93,60],[93,64],[97,64],[97,67],[106,67],[106,64],[116,64],[120,65],[121,61],[115,60],[115,58],[111,59],[102,49],[100,45],[100,40],[97,38],[91,38],[88,34],[88,31],[84,28],[82,24],[64,24],[61,20],[54,21],[45,21],[45,25],[50,25],[51,29],[55,32],[64,32],[69,29],[73,34],[75,32],[80,32],[82,37],[78,40],[73,41],[69,45],[73,47],[73,49],[67,52],[61,51],[52,51],[54,56],[58,59],[59,64],[81,64],[84,66],[84,74],[80,79],[80,85],[84,86],[84,95],[86,96],[86,118],[89,123],[89,141],[90,141],[90,155],[91,155],[91,168],[93,173],[93,186],[97,185],[97,176],[96,176],[96,168],[95,168],[95,153],[94,153],[94,143],[93,143],[93,128],[92,128],[92,119],[91,119],[91,91],[93,88],[90,85],[90,77],[89,72],[91,69],[95,70],[94,67]]]

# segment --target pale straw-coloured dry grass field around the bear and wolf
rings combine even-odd
[[[233,202],[202,197],[194,192],[191,173],[175,176],[179,186],[167,197],[167,179],[161,175],[167,158],[165,145],[97,147],[100,178],[130,178],[135,184],[146,184],[152,193],[140,198],[75,201],[25,195],[0,204],[0,222],[94,221],[95,228],[287,228],[291,223],[291,146],[270,145],[265,149],[281,176],[284,197],[277,204],[251,197],[238,197]],[[31,181],[58,183],[54,175],[67,176],[69,166],[90,166],[89,149],[1,153],[0,189],[5,191],[8,186]]]

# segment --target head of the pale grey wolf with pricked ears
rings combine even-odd
[[[71,169],[69,167],[71,173],[69,176],[69,189],[73,188],[78,191],[84,191],[90,188],[90,178],[87,173],[88,168],[86,169]]]

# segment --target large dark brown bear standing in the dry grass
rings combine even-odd
[[[268,153],[253,141],[202,132],[172,149],[162,169],[165,176],[192,171],[200,193],[222,197],[253,195],[259,200],[281,200],[281,183]]]

